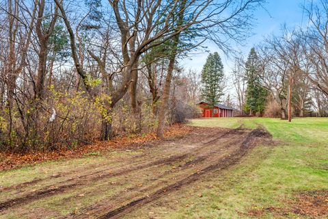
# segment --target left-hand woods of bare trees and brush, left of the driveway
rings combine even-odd
[[[1,150],[71,149],[147,131],[163,138],[196,99],[197,76],[178,61],[206,40],[229,52],[261,3],[1,1]]]

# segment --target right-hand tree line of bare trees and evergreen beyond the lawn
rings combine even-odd
[[[232,82],[241,114],[328,116],[328,1],[303,10],[306,27],[284,25],[247,59],[236,57]]]

